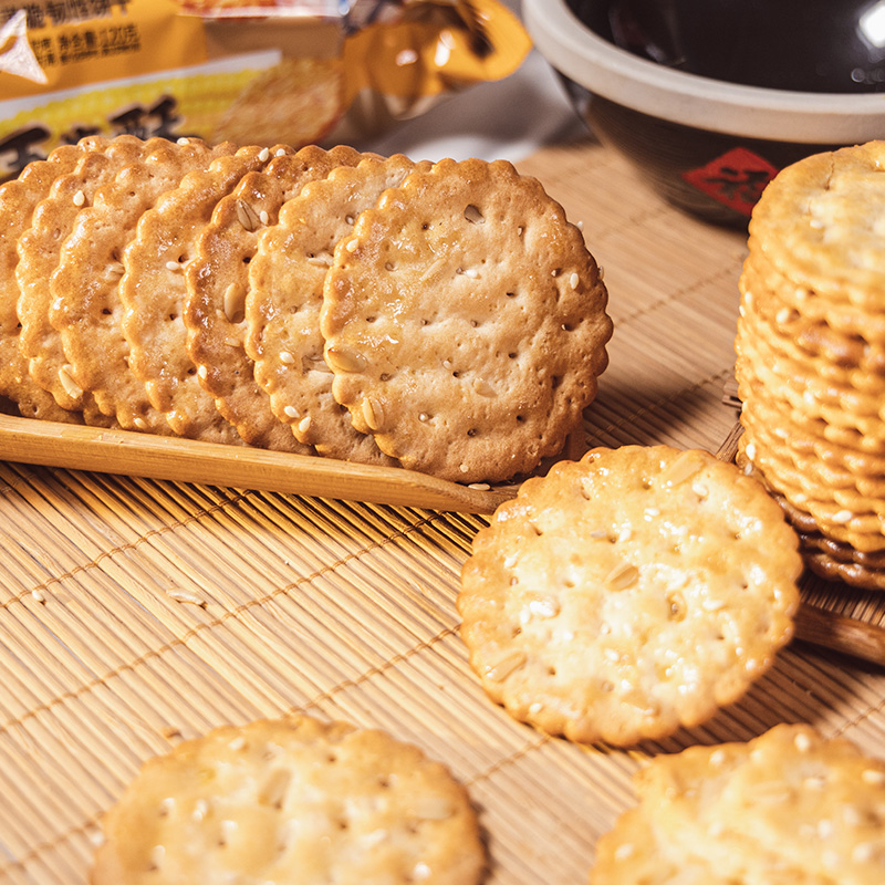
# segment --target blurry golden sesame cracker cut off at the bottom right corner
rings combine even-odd
[[[592,885],[873,885],[885,874],[885,762],[808,725],[658,756],[597,844]],[[656,875],[649,855],[670,876]],[[648,870],[648,877],[638,872]],[[699,879],[688,870],[708,868]]]

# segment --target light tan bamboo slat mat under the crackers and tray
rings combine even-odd
[[[660,204],[593,142],[521,164],[581,220],[615,335],[589,441],[716,450],[740,233]],[[794,644],[706,727],[631,751],[510,720],[467,666],[455,597],[485,518],[0,465],[0,882],[82,885],[138,766],[223,722],[294,710],[418,743],[469,788],[489,885],[584,883],[649,754],[811,721],[885,748],[885,673]],[[809,598],[881,623],[885,602]]]

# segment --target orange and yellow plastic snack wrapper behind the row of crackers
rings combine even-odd
[[[90,134],[355,144],[530,46],[498,0],[0,0],[0,180]]]

